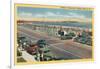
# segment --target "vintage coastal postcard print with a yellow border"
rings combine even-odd
[[[93,61],[93,8],[15,4],[15,64]]]

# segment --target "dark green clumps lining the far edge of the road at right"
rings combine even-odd
[[[92,32],[85,32],[83,31],[81,34],[77,35],[74,32],[69,32],[67,34],[64,31],[59,30],[58,34],[60,35],[61,40],[73,39],[75,42],[79,42],[82,44],[87,44],[92,46]]]

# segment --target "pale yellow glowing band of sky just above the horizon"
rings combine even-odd
[[[17,21],[26,22],[85,22],[90,23],[92,20],[87,19],[77,19],[77,18],[66,18],[66,19],[47,19],[47,18],[17,18]]]

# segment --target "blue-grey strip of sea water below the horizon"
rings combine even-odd
[[[34,25],[56,25],[56,26],[68,26],[68,27],[80,27],[80,28],[88,28],[91,29],[92,28],[92,23],[71,23],[71,22],[66,22],[66,23],[33,23]]]

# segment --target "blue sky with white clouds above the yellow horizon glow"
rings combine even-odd
[[[64,9],[64,8],[32,8],[32,7],[18,7],[17,14],[20,18],[49,18],[49,19],[63,19],[63,18],[81,18],[92,19],[91,10],[80,9]]]

